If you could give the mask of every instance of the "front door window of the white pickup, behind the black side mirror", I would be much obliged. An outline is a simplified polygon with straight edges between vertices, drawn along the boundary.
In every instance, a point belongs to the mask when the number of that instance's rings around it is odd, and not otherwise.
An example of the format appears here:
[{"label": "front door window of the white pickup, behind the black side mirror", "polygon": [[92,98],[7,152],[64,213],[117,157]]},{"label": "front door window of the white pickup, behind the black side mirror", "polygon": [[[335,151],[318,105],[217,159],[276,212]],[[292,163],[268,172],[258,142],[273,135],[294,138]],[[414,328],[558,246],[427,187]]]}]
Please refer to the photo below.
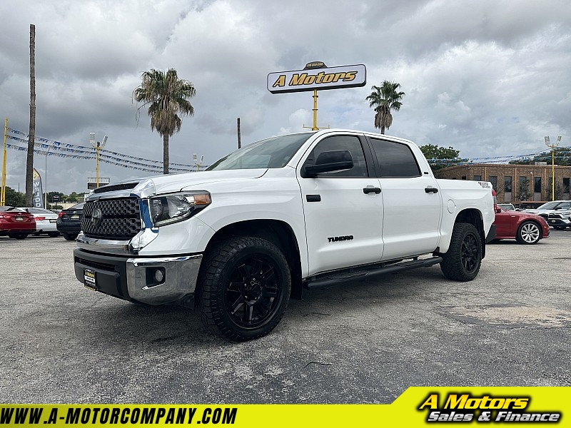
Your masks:
[{"label": "front door window of the white pickup, behind the black side mirror", "polygon": [[359,141],[355,136],[334,136],[323,138],[317,146],[313,148],[308,158],[305,159],[303,165],[313,165],[315,159],[320,153],[332,150],[348,150],[353,156],[353,168],[350,170],[333,171],[332,173],[319,174],[318,178],[334,178],[334,177],[367,177],[367,163],[365,162],[365,153]]}]

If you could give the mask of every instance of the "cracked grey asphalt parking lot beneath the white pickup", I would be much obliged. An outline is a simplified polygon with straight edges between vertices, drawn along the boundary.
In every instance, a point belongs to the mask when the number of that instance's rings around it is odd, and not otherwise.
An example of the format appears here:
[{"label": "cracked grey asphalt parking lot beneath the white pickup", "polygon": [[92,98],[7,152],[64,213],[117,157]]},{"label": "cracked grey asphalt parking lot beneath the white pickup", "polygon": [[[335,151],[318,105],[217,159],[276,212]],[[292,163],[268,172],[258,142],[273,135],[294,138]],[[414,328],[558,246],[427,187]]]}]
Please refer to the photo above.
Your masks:
[{"label": "cracked grey asphalt parking lot beneath the white pickup", "polygon": [[305,292],[244,343],[191,310],[87,290],[74,247],[0,238],[4,403],[390,403],[409,386],[571,385],[571,230],[488,245],[472,282],[437,265]]}]

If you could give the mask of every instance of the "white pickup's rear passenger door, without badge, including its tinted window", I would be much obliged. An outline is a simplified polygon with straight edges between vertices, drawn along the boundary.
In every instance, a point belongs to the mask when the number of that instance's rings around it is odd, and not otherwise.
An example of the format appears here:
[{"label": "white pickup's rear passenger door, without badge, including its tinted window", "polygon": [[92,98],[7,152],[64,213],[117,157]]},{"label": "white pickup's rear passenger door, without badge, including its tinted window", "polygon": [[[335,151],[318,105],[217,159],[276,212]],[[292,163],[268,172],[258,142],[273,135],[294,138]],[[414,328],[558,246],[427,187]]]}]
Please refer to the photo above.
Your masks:
[{"label": "white pickup's rear passenger door, without badge, including its tinted window", "polygon": [[421,170],[405,141],[371,137],[370,142],[383,195],[383,260],[433,252],[442,215],[438,183]]}]

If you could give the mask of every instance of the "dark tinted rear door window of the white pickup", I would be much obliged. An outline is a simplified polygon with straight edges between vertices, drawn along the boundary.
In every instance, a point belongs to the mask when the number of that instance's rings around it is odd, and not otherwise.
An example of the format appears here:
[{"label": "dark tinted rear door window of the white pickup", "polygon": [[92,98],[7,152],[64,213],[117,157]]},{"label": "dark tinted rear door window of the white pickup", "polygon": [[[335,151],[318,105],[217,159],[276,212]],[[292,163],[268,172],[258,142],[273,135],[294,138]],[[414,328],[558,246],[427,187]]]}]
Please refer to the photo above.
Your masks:
[{"label": "dark tinted rear door window of the white pickup", "polygon": [[418,177],[420,168],[410,148],[403,143],[371,138],[381,177]]}]

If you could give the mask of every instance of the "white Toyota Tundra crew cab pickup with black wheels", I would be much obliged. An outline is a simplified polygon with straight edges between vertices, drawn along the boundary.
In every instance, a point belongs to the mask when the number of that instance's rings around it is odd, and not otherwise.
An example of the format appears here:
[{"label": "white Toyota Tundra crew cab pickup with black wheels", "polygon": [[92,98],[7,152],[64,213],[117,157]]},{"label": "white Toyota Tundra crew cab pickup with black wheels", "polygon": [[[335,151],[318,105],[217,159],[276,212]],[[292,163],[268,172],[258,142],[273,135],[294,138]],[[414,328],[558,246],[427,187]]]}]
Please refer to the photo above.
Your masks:
[{"label": "white Toyota Tundra crew cab pickup with black wheels", "polygon": [[94,190],[75,273],[123,300],[196,307],[211,330],[249,340],[276,327],[303,287],[438,263],[472,280],[494,236],[488,184],[436,180],[401,138],[277,136],[202,172]]}]

